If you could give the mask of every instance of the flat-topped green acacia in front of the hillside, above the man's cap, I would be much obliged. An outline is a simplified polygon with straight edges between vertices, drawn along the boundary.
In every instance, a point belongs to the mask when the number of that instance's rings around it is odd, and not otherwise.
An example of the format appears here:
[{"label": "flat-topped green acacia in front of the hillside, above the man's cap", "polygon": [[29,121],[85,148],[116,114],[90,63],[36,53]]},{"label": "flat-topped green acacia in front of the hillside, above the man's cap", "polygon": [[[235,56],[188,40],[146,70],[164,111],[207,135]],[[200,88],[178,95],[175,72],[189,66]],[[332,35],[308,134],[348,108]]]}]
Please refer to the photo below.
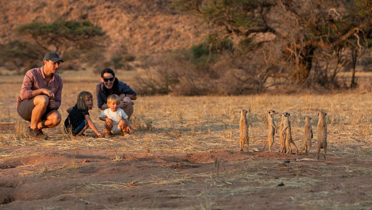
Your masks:
[{"label": "flat-topped green acacia in front of the hillside, above the man's cap", "polygon": [[61,56],[76,50],[102,48],[106,39],[100,27],[86,20],[57,20],[53,23],[35,21],[19,25],[16,32],[44,50],[59,52]]}]

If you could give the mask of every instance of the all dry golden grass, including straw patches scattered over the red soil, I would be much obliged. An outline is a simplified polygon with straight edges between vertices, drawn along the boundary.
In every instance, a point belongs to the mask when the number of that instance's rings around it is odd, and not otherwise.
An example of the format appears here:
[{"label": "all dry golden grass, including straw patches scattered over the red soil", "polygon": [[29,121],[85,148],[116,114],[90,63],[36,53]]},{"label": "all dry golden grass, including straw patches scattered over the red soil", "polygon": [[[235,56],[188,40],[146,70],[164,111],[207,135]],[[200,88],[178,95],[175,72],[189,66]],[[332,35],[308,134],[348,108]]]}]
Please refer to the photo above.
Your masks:
[{"label": "all dry golden grass, including straw patches scattered over the red soil", "polygon": [[[85,77],[74,77],[73,72],[62,74],[64,88],[62,92],[62,105],[60,112],[62,122],[67,116],[67,107],[75,104],[76,96],[80,91],[90,91],[94,95],[95,84],[98,75]],[[129,85],[133,81],[129,75],[120,74]],[[174,97],[174,96],[152,96],[141,97],[134,102],[135,112],[131,123],[134,127],[134,134],[128,138],[117,136],[115,138],[97,138],[92,130],[88,130],[88,137],[72,137],[63,133],[62,123],[56,128],[45,129],[49,135],[48,140],[30,140],[25,136],[25,128],[28,124],[22,120],[15,110],[15,99],[19,94],[22,78],[6,80],[0,78],[0,94],[3,100],[0,102],[0,123],[13,123],[15,130],[1,130],[0,135],[0,162],[13,157],[26,157],[30,155],[43,154],[43,149],[53,149],[55,152],[68,150],[106,150],[112,161],[125,161],[125,154],[173,154],[173,153],[208,153],[218,151],[239,151],[239,111],[241,108],[250,110],[249,121],[249,150],[261,148],[266,138],[265,112],[274,109],[279,113],[288,111],[291,113],[292,133],[296,145],[302,147],[304,116],[312,118],[314,131],[313,146],[310,153],[315,153],[317,110],[327,112],[326,121],[328,124],[328,155],[336,158],[348,158],[355,161],[372,163],[372,95],[358,91],[343,94],[323,95],[253,95],[253,96],[202,96],[202,97]],[[81,82],[82,81],[82,82]],[[133,87],[135,89],[135,87]],[[96,103],[94,97],[94,103]],[[96,104],[95,104],[96,105]],[[100,111],[95,107],[90,111],[93,122],[99,130],[103,131],[103,122],[98,119]],[[280,117],[277,115],[276,124],[279,126]],[[1,124],[0,124],[1,125]],[[279,150],[278,136],[275,136],[274,151]],[[42,150],[36,152],[17,151],[14,148],[28,148],[37,146]],[[9,150],[7,150],[9,148]],[[12,148],[10,150],[10,148]],[[8,152],[11,151],[11,152]],[[199,163],[212,163],[213,160],[200,159]],[[209,199],[221,195],[246,195],[263,191],[270,191],[280,183],[286,183],[284,188],[312,189],[321,184],[314,173],[324,173],[324,176],[334,176],[335,169],[341,169],[346,175],[371,175],[372,170],[368,167],[358,165],[325,165],[314,167],[311,164],[297,164],[297,167],[284,169],[295,173],[295,178],[279,177],[277,179],[265,178],[267,170],[276,170],[280,160],[244,160],[244,167],[227,171],[220,171],[220,166],[215,160],[214,171],[210,173],[178,174],[166,173],[164,177],[156,177],[148,180],[137,180],[122,182],[99,182],[84,181],[67,189],[66,194],[77,195],[77,191],[84,194],[96,189],[120,190],[136,188],[149,185],[192,185],[195,180],[204,179],[206,183],[213,185],[213,189],[201,193],[189,194],[181,191],[179,194],[169,194],[169,198],[193,198],[205,197],[202,209],[213,206]],[[36,176],[64,177],[80,170],[84,166],[78,163],[74,157],[66,166],[51,167],[46,162],[35,162],[32,166],[41,165],[37,172],[25,171],[20,176],[34,173]],[[224,163],[225,166],[230,163]],[[233,163],[231,163],[233,164]],[[300,165],[306,165],[302,168]],[[22,166],[20,166],[22,167]],[[29,168],[31,165],[24,165]],[[36,173],[36,174],[35,174]],[[307,174],[306,176],[302,176]],[[213,184],[214,183],[214,184]],[[217,184],[216,184],[217,183]],[[234,183],[234,184],[232,184]],[[235,183],[248,183],[248,185],[236,185]],[[252,187],[254,185],[254,187]],[[337,196],[344,194],[344,191],[320,191],[312,193],[304,191],[292,199],[300,200],[313,197]],[[366,194],[371,198],[371,191]],[[328,202],[327,200],[307,199],[302,203],[309,209],[317,207],[340,209],[352,208],[349,203]],[[366,207],[369,203],[361,201],[360,206]],[[357,205],[357,207],[360,207]],[[219,206],[228,208],[228,206]]]}]

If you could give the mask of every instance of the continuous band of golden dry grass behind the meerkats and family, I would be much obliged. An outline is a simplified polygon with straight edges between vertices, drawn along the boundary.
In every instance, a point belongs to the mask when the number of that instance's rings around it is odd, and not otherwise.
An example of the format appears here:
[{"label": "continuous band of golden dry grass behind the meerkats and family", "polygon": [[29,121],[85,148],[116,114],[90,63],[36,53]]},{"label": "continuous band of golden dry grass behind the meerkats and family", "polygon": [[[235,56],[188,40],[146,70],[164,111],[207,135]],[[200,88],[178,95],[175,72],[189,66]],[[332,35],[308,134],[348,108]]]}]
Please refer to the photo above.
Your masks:
[{"label": "continuous band of golden dry grass behind the meerkats and family", "polygon": [[[62,120],[67,116],[65,109],[74,105],[75,95],[80,90],[93,92],[95,83],[65,84],[60,108]],[[18,84],[1,84],[1,95],[8,94],[2,103],[1,121],[15,123],[16,132],[2,131],[0,143],[3,146],[57,147],[58,149],[107,148],[132,153],[163,152],[207,152],[212,150],[235,151],[238,149],[239,110],[250,109],[249,137],[252,147],[260,147],[266,135],[264,111],[275,109],[291,113],[293,136],[298,146],[302,145],[303,117],[312,117],[314,136],[318,109],[325,110],[328,123],[329,152],[334,155],[361,158],[371,157],[371,119],[368,111],[372,107],[370,94],[336,95],[290,95],[290,96],[234,96],[234,97],[138,97],[132,124],[135,128],[130,141],[120,138],[69,137],[62,132],[62,125],[46,129],[47,141],[30,141],[24,136],[27,123],[17,115],[14,99]],[[12,86],[12,87],[9,87]],[[93,88],[92,88],[93,87]],[[8,91],[5,91],[8,90]],[[12,97],[9,97],[12,96]],[[5,105],[6,104],[6,105]],[[91,110],[93,122],[103,130],[98,119],[100,111]],[[278,125],[279,118],[276,118]],[[62,124],[62,123],[61,123]],[[93,132],[88,134],[95,136]],[[315,140],[315,139],[314,139]],[[344,143],[344,144],[343,144]],[[332,147],[338,145],[338,147]],[[312,151],[314,147],[312,147]]]}]

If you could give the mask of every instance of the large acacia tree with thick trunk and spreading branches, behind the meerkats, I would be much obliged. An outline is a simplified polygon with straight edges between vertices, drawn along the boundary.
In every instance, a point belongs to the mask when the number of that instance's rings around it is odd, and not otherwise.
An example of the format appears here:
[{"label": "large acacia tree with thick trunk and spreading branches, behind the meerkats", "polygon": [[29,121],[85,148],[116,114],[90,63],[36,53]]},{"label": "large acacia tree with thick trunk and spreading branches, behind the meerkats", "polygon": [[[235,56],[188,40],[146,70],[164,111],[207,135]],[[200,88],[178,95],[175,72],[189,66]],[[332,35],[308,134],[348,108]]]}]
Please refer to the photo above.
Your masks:
[{"label": "large acacia tree with thick trunk and spreading branches, behind the meerkats", "polygon": [[[240,49],[237,53],[257,49],[252,45],[247,48],[242,41],[254,40],[261,33],[272,34],[276,42],[282,43],[281,59],[287,62],[286,73],[298,84],[305,84],[314,58],[322,56],[321,53],[341,55],[349,48],[368,47],[371,4],[371,0],[177,1],[179,8],[221,26],[223,30],[218,33],[222,39],[235,40],[234,48]],[[255,46],[259,47],[259,43]],[[328,82],[334,82],[340,66],[326,78]]]}]

